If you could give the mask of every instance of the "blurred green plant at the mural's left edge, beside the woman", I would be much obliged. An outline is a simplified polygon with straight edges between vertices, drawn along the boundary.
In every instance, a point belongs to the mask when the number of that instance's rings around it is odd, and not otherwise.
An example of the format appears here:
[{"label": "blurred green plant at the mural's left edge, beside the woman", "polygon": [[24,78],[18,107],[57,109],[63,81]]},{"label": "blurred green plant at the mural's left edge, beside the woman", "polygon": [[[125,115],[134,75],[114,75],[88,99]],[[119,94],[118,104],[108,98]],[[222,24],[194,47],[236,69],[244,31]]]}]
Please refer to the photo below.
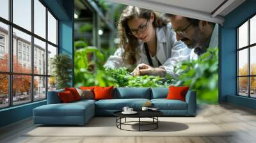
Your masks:
[{"label": "blurred green plant at the mural's left edge, beside the woman", "polygon": [[[83,47],[84,41],[76,41],[75,47]],[[92,61],[88,54],[94,57]],[[102,65],[104,55],[96,47],[83,47],[75,52],[75,85],[79,86],[116,86],[113,78],[106,75]]]}]

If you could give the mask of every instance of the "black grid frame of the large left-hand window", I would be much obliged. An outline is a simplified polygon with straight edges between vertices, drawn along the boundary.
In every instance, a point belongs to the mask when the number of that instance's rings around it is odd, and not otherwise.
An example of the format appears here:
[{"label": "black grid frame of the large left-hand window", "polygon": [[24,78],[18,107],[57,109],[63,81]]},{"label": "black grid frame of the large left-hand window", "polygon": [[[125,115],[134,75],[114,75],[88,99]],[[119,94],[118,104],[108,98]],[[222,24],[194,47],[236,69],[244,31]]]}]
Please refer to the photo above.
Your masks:
[{"label": "black grid frame of the large left-hand window", "polygon": [[[8,50],[9,50],[9,70],[8,72],[1,72],[0,71],[0,74],[2,75],[8,75],[8,98],[9,98],[9,103],[8,103],[8,106],[6,107],[0,107],[0,110],[1,109],[6,109],[6,108],[10,108],[10,107],[15,107],[15,106],[19,106],[19,105],[24,105],[24,104],[28,104],[28,103],[32,103],[32,102],[39,102],[39,101],[42,101],[42,100],[47,100],[47,91],[48,91],[48,80],[49,80],[49,77],[51,77],[51,75],[48,74],[48,69],[46,68],[45,69],[45,73],[34,73],[34,38],[37,38],[38,40],[41,40],[41,41],[44,41],[45,42],[45,59],[46,59],[46,65],[45,67],[48,66],[48,56],[47,56],[47,52],[48,52],[48,44],[49,45],[52,45],[53,47],[56,47],[57,49],[57,55],[59,54],[59,39],[58,39],[58,33],[59,33],[59,27],[58,27],[58,24],[59,24],[59,19],[56,17],[56,15],[54,15],[54,13],[50,10],[50,8],[48,8],[46,6],[46,4],[44,3],[44,1],[42,0],[38,0],[43,6],[45,6],[45,38],[39,36],[38,34],[35,34],[34,32],[34,15],[35,15],[35,9],[34,9],[34,1],[35,0],[31,0],[31,31],[28,31],[27,29],[13,23],[13,0],[9,0],[8,1],[8,6],[9,6],[9,11],[8,11],[8,16],[9,16],[9,20],[6,20],[4,19],[3,17],[0,17],[0,22],[3,23],[3,24],[6,24],[8,25]],[[48,40],[48,11],[49,13],[51,13],[51,15],[54,17],[54,19],[56,19],[56,44],[52,43],[51,41]],[[31,72],[30,73],[17,73],[17,72],[13,72],[13,28],[23,32],[23,33],[26,33],[26,34],[29,34],[29,36],[31,36],[31,47],[30,47],[30,54],[29,54],[29,61],[31,62]],[[26,47],[28,45],[26,45],[25,47],[25,51],[23,52],[23,44],[21,45],[21,50],[19,50],[19,41],[17,41],[17,52],[21,52],[22,54],[23,53],[26,53],[26,56],[27,56],[27,50],[26,50]],[[17,58],[18,55],[17,55]],[[22,57],[23,59],[23,57]],[[27,58],[26,58],[26,61],[27,61]],[[28,62],[28,61],[27,61]],[[13,105],[13,75],[29,75],[30,78],[31,78],[31,86],[30,86],[30,96],[31,96],[31,99],[28,100],[28,102],[26,103],[20,103],[20,104],[15,104]],[[40,99],[40,100],[35,100],[35,94],[34,94],[34,79],[36,77],[45,77],[45,98],[44,99]]]}]

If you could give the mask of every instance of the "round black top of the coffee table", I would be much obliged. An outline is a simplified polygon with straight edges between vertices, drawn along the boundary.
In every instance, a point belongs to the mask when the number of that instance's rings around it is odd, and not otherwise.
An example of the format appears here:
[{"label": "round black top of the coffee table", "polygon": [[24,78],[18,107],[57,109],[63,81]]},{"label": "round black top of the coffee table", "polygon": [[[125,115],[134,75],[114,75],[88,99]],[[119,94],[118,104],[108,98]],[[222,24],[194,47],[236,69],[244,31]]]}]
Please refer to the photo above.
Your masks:
[{"label": "round black top of the coffee table", "polygon": [[123,110],[114,112],[116,117],[159,117],[163,116],[163,112],[159,110],[136,110],[137,114],[122,114]]}]

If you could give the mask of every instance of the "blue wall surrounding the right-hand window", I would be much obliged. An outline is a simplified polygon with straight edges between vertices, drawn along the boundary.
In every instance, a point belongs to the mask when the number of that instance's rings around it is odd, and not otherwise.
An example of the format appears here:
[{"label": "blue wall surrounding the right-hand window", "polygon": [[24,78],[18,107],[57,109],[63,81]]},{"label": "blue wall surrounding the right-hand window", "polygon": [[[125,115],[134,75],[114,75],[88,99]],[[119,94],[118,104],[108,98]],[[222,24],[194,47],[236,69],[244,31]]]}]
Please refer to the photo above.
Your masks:
[{"label": "blue wall surrounding the right-hand window", "polygon": [[[225,17],[220,28],[220,102],[255,109],[256,100],[236,96],[236,27],[256,13],[256,0],[246,0]],[[253,105],[254,104],[254,105]]]}]

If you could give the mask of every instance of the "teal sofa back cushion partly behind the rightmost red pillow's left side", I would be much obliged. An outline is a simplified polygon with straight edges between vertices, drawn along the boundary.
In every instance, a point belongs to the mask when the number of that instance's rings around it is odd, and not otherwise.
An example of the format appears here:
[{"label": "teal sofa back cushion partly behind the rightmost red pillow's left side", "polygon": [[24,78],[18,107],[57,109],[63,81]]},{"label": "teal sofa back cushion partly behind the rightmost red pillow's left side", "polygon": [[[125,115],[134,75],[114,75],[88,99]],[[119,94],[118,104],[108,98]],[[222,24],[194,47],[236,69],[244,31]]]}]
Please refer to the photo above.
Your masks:
[{"label": "teal sofa back cushion partly behind the rightmost red pillow's left side", "polygon": [[152,87],[151,90],[151,99],[166,98],[169,93],[168,87]]}]

